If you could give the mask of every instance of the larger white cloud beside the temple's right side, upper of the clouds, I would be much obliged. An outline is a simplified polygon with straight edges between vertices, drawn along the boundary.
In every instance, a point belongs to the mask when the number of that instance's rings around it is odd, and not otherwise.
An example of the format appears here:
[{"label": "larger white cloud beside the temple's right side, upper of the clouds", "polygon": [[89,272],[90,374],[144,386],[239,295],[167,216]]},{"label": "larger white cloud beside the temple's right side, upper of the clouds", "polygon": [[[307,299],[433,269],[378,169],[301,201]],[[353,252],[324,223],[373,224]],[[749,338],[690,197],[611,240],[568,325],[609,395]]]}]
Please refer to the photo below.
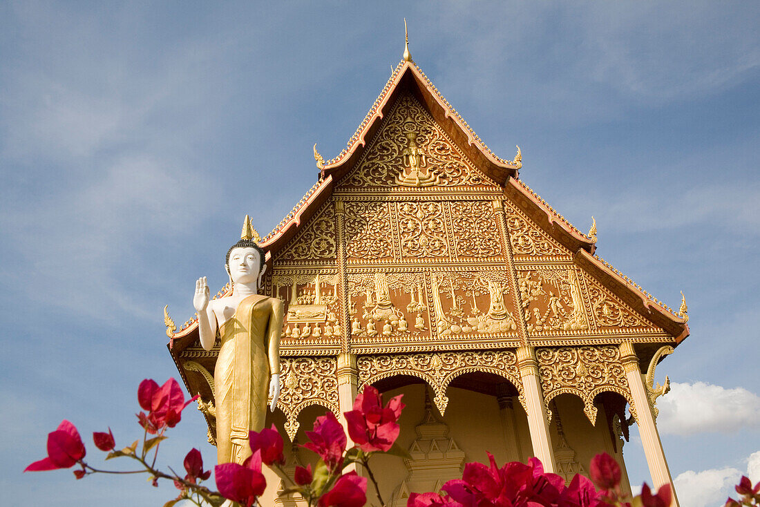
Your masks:
[{"label": "larger white cloud beside the temple's right side, upper of the clouds", "polygon": [[[705,382],[670,385],[670,393],[657,402],[660,433],[732,433],[741,428],[760,429],[760,397],[745,388],[727,389]],[[687,504],[688,505],[688,504]]]}]

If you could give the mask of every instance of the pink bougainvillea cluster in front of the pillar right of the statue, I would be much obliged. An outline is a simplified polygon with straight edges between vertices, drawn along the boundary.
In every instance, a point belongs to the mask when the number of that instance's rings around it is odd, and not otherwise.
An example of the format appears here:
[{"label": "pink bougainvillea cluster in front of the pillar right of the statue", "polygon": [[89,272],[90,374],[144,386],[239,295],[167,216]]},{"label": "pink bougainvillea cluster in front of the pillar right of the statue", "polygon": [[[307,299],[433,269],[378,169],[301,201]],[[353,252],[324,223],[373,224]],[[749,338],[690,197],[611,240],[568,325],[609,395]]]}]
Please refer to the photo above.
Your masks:
[{"label": "pink bougainvillea cluster in front of the pillar right of the statue", "polygon": [[363,452],[387,452],[393,446],[401,431],[398,417],[404,404],[398,395],[382,406],[379,391],[372,385],[366,385],[364,390],[356,395],[353,410],[346,412],[348,434]]}]

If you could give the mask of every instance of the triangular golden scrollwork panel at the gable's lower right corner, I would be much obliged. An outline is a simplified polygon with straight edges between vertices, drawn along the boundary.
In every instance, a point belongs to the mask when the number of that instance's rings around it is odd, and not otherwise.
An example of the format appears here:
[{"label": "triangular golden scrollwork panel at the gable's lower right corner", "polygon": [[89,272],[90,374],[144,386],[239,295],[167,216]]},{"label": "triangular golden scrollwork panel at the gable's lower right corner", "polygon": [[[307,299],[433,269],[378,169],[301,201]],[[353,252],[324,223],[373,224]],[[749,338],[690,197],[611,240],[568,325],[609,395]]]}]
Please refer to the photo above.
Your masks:
[{"label": "triangular golden scrollwork panel at the gable's lower right corner", "polygon": [[587,288],[591,318],[595,328],[614,334],[642,331],[663,332],[602,287],[591,275],[582,273],[582,278]]}]

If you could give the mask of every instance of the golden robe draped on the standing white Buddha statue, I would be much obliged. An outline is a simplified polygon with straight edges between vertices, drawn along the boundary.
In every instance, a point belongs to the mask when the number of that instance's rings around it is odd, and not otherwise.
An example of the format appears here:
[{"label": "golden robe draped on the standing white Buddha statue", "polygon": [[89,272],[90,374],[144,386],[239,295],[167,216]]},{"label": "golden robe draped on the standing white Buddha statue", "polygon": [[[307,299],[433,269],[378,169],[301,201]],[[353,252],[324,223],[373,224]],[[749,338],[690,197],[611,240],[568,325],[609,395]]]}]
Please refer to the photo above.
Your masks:
[{"label": "golden robe draped on the standing white Buddha statue", "polygon": [[264,429],[270,377],[280,372],[282,326],[282,301],[254,294],[219,328],[214,387],[220,464],[242,464],[251,455],[249,431]]}]

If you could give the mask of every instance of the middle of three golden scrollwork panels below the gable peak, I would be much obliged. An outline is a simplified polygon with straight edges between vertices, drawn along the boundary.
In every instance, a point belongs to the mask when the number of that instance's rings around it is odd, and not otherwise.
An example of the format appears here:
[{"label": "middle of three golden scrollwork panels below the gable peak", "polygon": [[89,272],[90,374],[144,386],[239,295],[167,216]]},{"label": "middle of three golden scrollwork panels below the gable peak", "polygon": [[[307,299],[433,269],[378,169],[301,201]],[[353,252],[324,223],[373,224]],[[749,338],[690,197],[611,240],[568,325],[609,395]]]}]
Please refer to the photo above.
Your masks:
[{"label": "middle of three golden scrollwork panels below the gable peak", "polygon": [[442,202],[398,204],[401,255],[404,257],[448,257],[443,206]]}]

